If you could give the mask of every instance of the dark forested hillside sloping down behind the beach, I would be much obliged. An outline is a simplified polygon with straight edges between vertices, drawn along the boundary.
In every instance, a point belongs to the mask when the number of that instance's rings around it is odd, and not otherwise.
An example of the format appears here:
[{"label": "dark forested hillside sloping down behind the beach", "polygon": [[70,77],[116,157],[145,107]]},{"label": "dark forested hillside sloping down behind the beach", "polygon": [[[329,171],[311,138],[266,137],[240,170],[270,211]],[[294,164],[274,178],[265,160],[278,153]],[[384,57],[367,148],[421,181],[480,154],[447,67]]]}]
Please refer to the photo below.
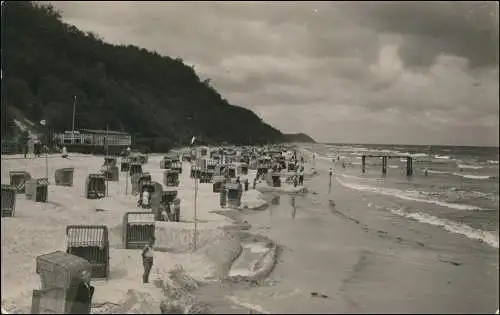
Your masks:
[{"label": "dark forested hillside sloping down behind the beach", "polygon": [[[71,130],[76,95],[76,128],[108,125],[147,138],[151,150],[186,144],[193,135],[207,143],[284,141],[255,113],[229,104],[182,59],[107,44],[63,23],[51,6],[4,3],[2,59],[2,107],[31,121],[45,119],[57,131]],[[2,137],[11,129],[2,128]]]}]

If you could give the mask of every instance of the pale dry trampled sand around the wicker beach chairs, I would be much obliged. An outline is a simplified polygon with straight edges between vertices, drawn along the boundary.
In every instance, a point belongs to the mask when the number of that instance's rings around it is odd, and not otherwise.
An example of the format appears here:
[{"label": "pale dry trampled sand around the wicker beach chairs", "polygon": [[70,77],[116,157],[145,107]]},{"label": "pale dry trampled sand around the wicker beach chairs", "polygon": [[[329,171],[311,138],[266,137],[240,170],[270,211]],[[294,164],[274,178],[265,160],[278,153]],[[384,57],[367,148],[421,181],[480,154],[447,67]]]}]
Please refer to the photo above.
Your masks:
[{"label": "pale dry trampled sand around the wicker beach chairs", "polygon": [[[151,156],[143,165],[152,179],[163,181],[159,168],[162,156]],[[123,249],[121,222],[136,207],[137,197],[131,195],[131,185],[126,184],[125,173],[118,182],[108,183],[108,196],[98,200],[84,197],[85,179],[89,173],[98,173],[102,157],[74,155],[62,159],[51,155],[48,161],[50,185],[48,202],[35,203],[18,194],[14,217],[2,218],[2,308],[10,313],[29,313],[32,290],[40,287],[35,272],[35,259],[56,250],[64,251],[65,229],[71,224],[104,224],[110,231],[110,276],[108,280],[93,280],[96,293],[93,313],[158,313],[165,299],[165,275],[181,266],[196,281],[226,277],[231,263],[241,252],[237,235],[224,229],[233,222],[226,216],[213,213],[226,211],[219,205],[219,195],[212,192],[211,184],[198,184],[196,201],[197,233],[194,248],[195,200],[194,180],[189,178],[189,165],[183,163],[180,185],[181,222],[156,222],[155,265],[151,283],[141,280],[140,250]],[[54,171],[74,168],[74,185],[54,185]],[[23,159],[22,156],[2,158],[1,180],[8,184],[9,171],[27,171],[32,178],[45,177],[45,158]],[[130,181],[130,180],[129,180]],[[128,191],[128,194],[126,192]],[[258,208],[265,205],[256,190],[244,192],[241,208]],[[96,211],[96,209],[100,209]],[[2,310],[2,313],[3,311]]]}]

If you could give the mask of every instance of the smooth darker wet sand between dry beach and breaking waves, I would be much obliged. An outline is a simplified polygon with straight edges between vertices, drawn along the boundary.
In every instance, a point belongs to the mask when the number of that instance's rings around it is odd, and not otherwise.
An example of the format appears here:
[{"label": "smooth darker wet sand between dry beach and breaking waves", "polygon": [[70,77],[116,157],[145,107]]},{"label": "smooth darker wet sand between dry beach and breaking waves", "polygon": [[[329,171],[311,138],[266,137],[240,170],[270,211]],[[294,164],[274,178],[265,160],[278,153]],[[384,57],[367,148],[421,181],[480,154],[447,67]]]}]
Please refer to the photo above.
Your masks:
[{"label": "smooth darker wet sand between dry beach and breaking waves", "polygon": [[498,249],[370,207],[368,193],[335,180],[328,193],[328,165],[317,164],[295,214],[283,194],[245,212],[250,231],[283,251],[265,285],[234,291],[239,300],[272,313],[496,311]]}]

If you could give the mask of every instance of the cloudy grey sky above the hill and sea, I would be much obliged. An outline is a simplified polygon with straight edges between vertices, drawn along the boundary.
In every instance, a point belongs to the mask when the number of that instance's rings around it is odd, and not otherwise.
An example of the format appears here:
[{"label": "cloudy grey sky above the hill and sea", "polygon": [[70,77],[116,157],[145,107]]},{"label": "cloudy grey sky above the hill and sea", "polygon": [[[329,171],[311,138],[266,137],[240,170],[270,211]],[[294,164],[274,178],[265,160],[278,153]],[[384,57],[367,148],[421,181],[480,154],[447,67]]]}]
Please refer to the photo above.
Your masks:
[{"label": "cloudy grey sky above the hill and sea", "polygon": [[498,2],[52,2],[319,142],[498,146]]}]

